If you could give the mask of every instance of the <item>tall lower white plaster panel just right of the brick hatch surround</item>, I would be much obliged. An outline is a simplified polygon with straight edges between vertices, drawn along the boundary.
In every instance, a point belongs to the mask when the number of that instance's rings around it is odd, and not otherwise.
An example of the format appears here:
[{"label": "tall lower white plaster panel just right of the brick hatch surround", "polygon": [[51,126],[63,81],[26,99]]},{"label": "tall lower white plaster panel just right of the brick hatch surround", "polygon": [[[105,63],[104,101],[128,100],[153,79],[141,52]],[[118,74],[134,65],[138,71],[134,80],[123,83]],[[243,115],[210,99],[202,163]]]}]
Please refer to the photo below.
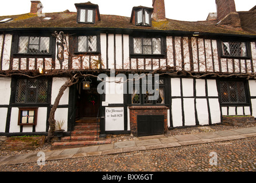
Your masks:
[{"label": "tall lower white plaster panel just right of the brick hatch surround", "polygon": [[181,99],[176,98],[172,100],[172,121],[173,127],[182,126],[183,118],[181,112]]}]

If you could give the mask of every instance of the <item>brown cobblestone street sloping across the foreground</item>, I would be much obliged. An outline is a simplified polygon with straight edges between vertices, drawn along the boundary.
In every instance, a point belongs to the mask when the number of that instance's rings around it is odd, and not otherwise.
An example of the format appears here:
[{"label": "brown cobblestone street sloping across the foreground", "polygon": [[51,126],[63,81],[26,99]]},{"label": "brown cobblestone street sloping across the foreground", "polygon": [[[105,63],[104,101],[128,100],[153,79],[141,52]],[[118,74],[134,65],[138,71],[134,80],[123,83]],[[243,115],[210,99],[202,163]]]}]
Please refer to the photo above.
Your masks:
[{"label": "brown cobblestone street sloping across the foreground", "polygon": [[[0,171],[17,172],[256,172],[256,138],[214,142],[176,148],[145,150],[96,157],[73,158],[37,163],[3,165]],[[216,152],[215,156],[210,156]],[[212,162],[217,165],[211,165]]]}]

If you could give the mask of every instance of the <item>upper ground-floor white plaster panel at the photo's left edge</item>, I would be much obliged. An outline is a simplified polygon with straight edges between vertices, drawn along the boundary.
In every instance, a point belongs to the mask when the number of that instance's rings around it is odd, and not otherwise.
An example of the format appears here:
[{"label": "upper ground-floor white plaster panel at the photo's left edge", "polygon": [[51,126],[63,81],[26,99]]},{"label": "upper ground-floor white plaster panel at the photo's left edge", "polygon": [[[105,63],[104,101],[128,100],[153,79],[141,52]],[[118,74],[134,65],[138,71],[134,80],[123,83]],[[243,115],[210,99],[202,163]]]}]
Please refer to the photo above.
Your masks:
[{"label": "upper ground-floor white plaster panel at the photo's left edge", "polygon": [[11,95],[11,78],[0,78],[0,105],[9,105]]}]

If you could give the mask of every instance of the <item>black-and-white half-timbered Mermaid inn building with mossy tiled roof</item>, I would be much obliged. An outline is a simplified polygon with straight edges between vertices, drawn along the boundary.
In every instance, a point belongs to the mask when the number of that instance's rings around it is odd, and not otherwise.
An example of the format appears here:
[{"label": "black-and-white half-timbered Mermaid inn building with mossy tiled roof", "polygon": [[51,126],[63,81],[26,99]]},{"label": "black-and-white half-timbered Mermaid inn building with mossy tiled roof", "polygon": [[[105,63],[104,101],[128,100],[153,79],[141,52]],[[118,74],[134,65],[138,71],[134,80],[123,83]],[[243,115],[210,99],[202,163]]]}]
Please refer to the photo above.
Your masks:
[{"label": "black-and-white half-timbered Mermaid inn building with mossy tiled roof", "polygon": [[[159,97],[141,93],[142,82],[140,92],[131,93],[123,90],[128,82],[106,82],[106,90],[121,92],[99,94],[96,77],[81,77],[65,90],[55,113],[66,134],[83,118],[98,117],[104,137],[256,116],[255,7],[237,12],[234,0],[216,0],[217,13],[187,22],[166,18],[164,0],[133,7],[131,17],[100,14],[91,2],[75,4],[76,12],[45,14],[38,4],[32,1],[28,14],[0,17],[2,135],[47,134],[59,89],[76,73],[106,74],[105,81],[157,73]],[[61,31],[64,45],[52,35]],[[90,90],[83,89],[85,80]]]}]

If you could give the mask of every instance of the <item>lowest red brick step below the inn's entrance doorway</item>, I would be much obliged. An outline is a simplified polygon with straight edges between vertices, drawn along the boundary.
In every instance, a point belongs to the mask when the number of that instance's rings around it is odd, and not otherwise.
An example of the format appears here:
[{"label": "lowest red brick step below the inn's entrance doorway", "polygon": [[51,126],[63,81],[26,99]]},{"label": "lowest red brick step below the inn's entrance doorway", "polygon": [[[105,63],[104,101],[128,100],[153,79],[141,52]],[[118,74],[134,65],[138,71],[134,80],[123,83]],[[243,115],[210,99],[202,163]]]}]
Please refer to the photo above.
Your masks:
[{"label": "lowest red brick step below the inn's entrance doorway", "polygon": [[103,141],[75,141],[75,142],[54,142],[52,144],[52,150],[54,149],[66,149],[66,148],[80,148],[83,146],[111,144],[111,139]]}]

